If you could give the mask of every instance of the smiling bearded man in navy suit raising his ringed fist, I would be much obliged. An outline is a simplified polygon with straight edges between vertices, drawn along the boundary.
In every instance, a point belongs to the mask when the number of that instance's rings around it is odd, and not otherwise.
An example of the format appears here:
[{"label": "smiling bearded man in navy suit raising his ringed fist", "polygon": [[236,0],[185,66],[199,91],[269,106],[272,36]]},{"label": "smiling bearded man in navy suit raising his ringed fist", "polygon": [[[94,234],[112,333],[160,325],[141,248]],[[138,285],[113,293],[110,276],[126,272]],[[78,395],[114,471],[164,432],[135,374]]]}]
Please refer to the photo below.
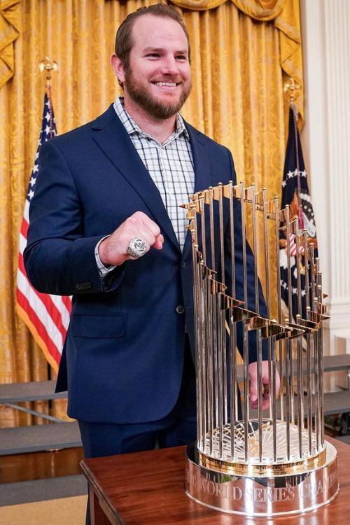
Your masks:
[{"label": "smiling bearded man in navy suit raising his ringed fist", "polygon": [[[190,45],[175,10],[129,15],[111,64],[124,97],[41,147],[25,250],[38,290],[73,295],[57,390],[68,388],[87,457],[195,440],[191,240],[179,205],[235,181],[230,152],[179,115]],[[239,231],[239,210],[236,219]]]}]

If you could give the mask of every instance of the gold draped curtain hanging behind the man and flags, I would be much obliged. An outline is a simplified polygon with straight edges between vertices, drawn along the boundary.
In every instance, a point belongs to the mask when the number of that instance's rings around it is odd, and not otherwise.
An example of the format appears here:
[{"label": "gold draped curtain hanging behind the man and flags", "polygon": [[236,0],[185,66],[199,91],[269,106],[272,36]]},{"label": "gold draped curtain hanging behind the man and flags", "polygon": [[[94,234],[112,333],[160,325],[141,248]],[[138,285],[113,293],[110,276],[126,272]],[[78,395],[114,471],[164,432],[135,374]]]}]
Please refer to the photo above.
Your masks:
[{"label": "gold draped curtain hanging behind the man and flags", "polygon": [[[116,28],[127,13],[151,3],[155,0],[1,3],[0,68],[11,62],[10,51],[1,52],[6,20],[13,27],[6,45],[12,46],[14,74],[0,87],[0,383],[48,374],[41,350],[15,314],[18,232],[43,111],[45,80],[38,63],[49,56],[59,64],[52,76],[57,131],[86,123],[120,93],[109,65]],[[287,120],[283,78],[296,72],[302,83],[298,0],[169,3],[183,13],[193,48],[193,92],[183,115],[230,148],[238,181],[266,186],[269,197],[280,195]],[[63,410],[62,403],[56,405],[56,414]],[[0,426],[28,422],[29,416],[0,407]]]}]

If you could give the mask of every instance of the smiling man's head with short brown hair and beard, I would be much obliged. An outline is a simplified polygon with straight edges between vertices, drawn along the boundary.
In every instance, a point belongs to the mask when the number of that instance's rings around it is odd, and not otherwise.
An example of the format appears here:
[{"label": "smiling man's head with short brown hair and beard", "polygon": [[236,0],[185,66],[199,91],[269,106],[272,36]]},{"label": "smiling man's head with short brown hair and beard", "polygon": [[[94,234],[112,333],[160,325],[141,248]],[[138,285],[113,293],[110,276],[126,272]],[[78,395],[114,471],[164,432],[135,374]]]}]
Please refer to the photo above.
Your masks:
[{"label": "smiling man's head with short brown hair and beard", "polygon": [[142,119],[146,127],[152,121],[156,130],[161,121],[170,133],[191,88],[188,36],[174,13],[166,19],[151,14],[130,17],[118,31],[111,61],[124,87],[125,109],[134,120]]}]

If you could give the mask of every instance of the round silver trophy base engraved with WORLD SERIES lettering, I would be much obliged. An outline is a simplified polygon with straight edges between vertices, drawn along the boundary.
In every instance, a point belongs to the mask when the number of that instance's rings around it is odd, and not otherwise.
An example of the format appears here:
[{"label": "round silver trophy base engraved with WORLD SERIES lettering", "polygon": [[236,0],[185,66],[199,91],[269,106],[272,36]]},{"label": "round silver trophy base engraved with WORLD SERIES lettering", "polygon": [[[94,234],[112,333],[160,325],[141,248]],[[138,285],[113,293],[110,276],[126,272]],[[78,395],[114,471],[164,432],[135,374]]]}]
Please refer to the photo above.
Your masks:
[{"label": "round silver trophy base engraved with WORLD SERIES lettering", "polygon": [[201,505],[229,514],[272,517],[300,514],[330,503],[339,493],[337,451],[325,442],[324,461],[295,474],[247,476],[201,465],[195,444],[187,449],[186,494]]}]

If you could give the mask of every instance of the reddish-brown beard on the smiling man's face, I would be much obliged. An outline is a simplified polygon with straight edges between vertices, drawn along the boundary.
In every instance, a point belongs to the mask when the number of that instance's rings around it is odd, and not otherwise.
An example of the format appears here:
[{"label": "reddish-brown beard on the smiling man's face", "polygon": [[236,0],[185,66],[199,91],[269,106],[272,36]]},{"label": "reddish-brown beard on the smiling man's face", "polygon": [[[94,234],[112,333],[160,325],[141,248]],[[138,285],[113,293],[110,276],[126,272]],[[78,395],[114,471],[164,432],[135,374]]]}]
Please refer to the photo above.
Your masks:
[{"label": "reddish-brown beard on the smiling man's face", "polygon": [[[174,80],[167,78],[166,80],[162,80],[162,82],[174,82]],[[160,100],[153,97],[153,95],[145,89],[144,85],[137,83],[134,78],[132,78],[130,71],[125,71],[124,86],[130,98],[157,120],[165,120],[176,115],[188,99],[192,87],[190,80],[188,80],[188,83],[183,84],[183,90],[178,101],[170,104],[160,102]]]}]

